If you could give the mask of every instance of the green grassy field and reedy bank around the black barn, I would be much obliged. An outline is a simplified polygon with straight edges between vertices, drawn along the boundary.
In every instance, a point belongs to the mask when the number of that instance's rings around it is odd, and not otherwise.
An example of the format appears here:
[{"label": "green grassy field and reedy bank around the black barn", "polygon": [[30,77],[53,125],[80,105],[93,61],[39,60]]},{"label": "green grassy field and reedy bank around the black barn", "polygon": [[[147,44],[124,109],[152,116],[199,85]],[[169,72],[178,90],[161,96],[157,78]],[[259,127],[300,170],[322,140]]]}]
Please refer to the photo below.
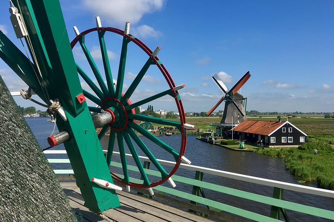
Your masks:
[{"label": "green grassy field and reedy bank around the black barn", "polygon": [[[278,121],[277,116],[247,117],[252,120]],[[173,120],[173,119],[171,119]],[[210,123],[220,122],[221,117],[187,117],[187,123],[196,125],[203,131],[213,127]],[[283,121],[287,119],[282,118]],[[175,119],[177,121],[177,119]],[[245,149],[239,148],[239,143],[217,144],[225,148],[242,151],[253,151],[276,158],[284,158],[286,169],[299,177],[302,182],[317,183],[319,187],[334,190],[334,119],[324,115],[301,115],[289,118],[289,122],[303,130],[307,142],[296,148],[267,148],[260,149],[254,144],[245,143]],[[190,133],[189,133],[190,134]],[[193,134],[193,133],[191,133]],[[314,149],[318,150],[315,155]]]}]

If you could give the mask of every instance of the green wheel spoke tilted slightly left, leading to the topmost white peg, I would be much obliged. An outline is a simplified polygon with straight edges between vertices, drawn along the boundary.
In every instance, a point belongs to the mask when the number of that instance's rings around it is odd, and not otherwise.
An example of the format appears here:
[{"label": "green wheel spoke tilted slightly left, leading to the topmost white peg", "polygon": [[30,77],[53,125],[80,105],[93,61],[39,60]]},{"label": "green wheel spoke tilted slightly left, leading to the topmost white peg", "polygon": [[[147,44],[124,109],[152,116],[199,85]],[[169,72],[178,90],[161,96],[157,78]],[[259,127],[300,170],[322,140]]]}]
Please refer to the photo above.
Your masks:
[{"label": "green wheel spoke tilted slightly left, leading to the topmost white peg", "polygon": [[112,80],[112,73],[111,73],[111,70],[110,70],[108,51],[107,51],[107,48],[105,46],[105,41],[104,41],[105,31],[104,30],[97,31],[97,33],[98,33],[98,39],[99,39],[99,42],[100,42],[105,79],[107,80],[108,96],[109,97],[114,97],[115,96],[114,82]]}]

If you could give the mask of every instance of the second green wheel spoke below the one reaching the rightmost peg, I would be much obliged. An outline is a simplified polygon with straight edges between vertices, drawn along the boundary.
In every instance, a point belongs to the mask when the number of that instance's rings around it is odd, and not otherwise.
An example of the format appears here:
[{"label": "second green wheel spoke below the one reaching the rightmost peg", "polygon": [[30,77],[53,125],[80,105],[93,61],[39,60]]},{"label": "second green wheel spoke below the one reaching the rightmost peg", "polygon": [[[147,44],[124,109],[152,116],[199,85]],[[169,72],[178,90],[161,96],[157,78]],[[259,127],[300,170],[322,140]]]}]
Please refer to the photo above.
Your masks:
[{"label": "second green wheel spoke below the one reaching the rightmost peg", "polygon": [[161,173],[161,178],[164,179],[168,176],[168,173],[166,170],[161,166],[161,164],[157,161],[157,159],[154,157],[153,153],[147,148],[145,143],[139,138],[139,136],[133,131],[132,128],[127,127],[126,132],[129,133],[129,135],[132,137],[132,139],[138,144],[139,148],[145,153],[145,155],[151,160],[153,165],[159,170]]}]

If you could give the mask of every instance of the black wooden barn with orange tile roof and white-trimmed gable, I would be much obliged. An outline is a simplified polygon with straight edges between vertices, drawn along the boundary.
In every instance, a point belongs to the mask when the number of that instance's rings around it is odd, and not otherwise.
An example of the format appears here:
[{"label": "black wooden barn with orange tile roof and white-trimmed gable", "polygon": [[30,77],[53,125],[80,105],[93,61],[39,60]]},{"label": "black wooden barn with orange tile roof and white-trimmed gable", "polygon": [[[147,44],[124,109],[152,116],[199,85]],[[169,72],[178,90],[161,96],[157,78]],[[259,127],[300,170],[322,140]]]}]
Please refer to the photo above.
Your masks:
[{"label": "black wooden barn with orange tile roof and white-trimmed gable", "polygon": [[235,126],[233,137],[269,147],[299,146],[306,142],[307,134],[286,121],[246,120]]}]

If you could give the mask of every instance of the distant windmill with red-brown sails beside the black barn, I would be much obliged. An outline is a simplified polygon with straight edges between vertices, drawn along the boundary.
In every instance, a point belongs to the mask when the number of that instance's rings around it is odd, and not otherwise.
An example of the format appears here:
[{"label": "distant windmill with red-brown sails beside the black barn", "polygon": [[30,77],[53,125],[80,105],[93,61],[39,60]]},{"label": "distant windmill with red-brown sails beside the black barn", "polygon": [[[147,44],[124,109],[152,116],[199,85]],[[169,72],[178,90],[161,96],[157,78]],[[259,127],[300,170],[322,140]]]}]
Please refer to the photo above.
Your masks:
[{"label": "distant windmill with red-brown sails beside the black barn", "polygon": [[218,87],[223,91],[224,96],[218,101],[218,103],[209,111],[207,111],[208,116],[216,110],[216,108],[225,101],[225,109],[223,113],[223,118],[221,123],[223,124],[234,124],[243,122],[246,120],[246,98],[240,95],[238,90],[247,82],[251,77],[250,72],[248,71],[230,90],[227,89],[224,82],[215,74],[212,79],[218,85]]}]

